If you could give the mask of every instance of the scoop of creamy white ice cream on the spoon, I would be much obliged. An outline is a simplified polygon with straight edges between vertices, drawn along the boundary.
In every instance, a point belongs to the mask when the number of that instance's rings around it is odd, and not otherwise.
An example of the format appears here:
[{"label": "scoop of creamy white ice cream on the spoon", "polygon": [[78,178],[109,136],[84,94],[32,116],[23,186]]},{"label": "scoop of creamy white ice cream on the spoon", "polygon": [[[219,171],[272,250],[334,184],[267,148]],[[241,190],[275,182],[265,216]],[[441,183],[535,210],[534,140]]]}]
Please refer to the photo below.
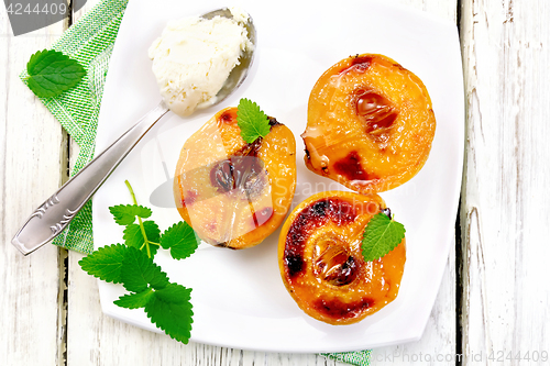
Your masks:
[{"label": "scoop of creamy white ice cream on the spoon", "polygon": [[253,47],[243,23],[248,14],[231,9],[233,19],[199,16],[170,21],[148,49],[153,73],[168,108],[189,115],[215,96],[241,54]]}]

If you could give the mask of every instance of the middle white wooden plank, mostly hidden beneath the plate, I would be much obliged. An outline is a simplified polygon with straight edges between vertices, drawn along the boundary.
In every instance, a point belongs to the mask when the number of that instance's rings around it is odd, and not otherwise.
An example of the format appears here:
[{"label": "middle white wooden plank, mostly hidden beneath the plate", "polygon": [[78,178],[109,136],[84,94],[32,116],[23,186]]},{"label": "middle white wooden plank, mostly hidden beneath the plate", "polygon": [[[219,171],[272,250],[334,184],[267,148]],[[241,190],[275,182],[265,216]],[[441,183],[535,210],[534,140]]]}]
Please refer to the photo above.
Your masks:
[{"label": "middle white wooden plank, mostly hidden beneath the plate", "polygon": [[[89,0],[75,14],[81,16],[96,1]],[[402,0],[417,9],[428,10],[452,21],[457,2],[441,4],[437,0]],[[112,320],[102,314],[96,279],[86,275],[78,260],[82,255],[69,253],[68,263],[68,336],[67,364],[70,365],[343,365],[317,355],[274,354],[215,347],[197,343],[185,346],[160,335]],[[454,256],[446,270],[438,300],[422,341],[383,352],[407,353],[435,350],[454,353],[455,343]],[[378,363],[376,363],[378,365]]]}]

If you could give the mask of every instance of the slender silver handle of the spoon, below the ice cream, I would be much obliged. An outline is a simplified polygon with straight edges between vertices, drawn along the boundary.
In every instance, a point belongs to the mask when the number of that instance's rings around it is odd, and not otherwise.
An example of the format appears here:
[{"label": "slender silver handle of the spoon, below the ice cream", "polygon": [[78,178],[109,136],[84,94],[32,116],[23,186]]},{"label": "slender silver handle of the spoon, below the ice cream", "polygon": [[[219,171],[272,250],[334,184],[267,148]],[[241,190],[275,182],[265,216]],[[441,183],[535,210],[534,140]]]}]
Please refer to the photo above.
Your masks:
[{"label": "slender silver handle of the spoon, below the ice cream", "polygon": [[18,231],[11,241],[12,244],[28,255],[57,236],[143,135],[167,112],[164,102],[148,111],[42,203]]}]

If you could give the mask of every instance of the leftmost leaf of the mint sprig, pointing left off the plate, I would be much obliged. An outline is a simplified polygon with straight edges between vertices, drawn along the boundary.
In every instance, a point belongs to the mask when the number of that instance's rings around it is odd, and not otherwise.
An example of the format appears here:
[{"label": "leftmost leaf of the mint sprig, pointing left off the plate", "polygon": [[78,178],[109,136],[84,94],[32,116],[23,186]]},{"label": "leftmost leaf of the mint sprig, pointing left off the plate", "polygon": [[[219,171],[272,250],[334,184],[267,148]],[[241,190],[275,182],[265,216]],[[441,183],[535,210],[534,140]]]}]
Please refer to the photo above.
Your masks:
[{"label": "leftmost leaf of the mint sprig, pointing left off the plate", "polygon": [[107,282],[122,282],[120,269],[128,247],[122,244],[112,244],[98,248],[81,258],[78,264],[89,275]]}]

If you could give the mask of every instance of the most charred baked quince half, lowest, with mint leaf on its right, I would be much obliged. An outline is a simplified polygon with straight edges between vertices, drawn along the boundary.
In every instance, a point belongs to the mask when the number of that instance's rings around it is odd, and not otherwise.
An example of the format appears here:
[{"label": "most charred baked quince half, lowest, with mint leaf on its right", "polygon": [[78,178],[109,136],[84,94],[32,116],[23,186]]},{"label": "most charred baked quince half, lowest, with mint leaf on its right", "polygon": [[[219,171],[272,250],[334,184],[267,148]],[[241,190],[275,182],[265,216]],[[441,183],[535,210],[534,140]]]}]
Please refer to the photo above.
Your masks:
[{"label": "most charred baked quince half, lowest, with mint leaf on its right", "polygon": [[386,206],[377,195],[326,191],[298,204],[279,236],[283,281],[308,315],[352,324],[392,302],[405,266],[405,239],[365,263],[361,243],[369,221]]}]

